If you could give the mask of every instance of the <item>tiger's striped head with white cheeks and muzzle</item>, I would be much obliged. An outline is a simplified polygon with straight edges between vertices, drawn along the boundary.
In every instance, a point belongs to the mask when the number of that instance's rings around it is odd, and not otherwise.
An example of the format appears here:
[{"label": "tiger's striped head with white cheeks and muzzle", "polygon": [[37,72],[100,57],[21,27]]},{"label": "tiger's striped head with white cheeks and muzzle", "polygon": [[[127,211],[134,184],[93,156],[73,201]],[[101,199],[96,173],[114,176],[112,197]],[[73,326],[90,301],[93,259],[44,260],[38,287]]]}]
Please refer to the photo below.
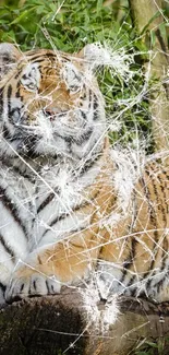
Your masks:
[{"label": "tiger's striped head with white cheeks and muzzle", "polygon": [[0,45],[2,154],[82,157],[96,144],[105,110],[87,51],[22,54]]}]

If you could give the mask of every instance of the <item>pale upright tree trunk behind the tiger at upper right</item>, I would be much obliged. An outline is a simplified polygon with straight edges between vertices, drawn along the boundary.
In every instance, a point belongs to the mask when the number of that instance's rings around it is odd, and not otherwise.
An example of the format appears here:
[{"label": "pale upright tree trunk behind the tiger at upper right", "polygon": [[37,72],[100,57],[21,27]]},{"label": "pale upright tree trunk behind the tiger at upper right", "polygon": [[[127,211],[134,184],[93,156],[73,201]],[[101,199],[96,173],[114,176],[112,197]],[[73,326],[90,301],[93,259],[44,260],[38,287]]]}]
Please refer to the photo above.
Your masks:
[{"label": "pale upright tree trunk behind the tiger at upper right", "polygon": [[[131,17],[142,42],[150,50],[149,62],[144,68],[147,78],[154,81],[149,92],[149,110],[152,114],[155,150],[169,154],[169,51],[162,15],[162,0],[129,0]],[[162,29],[164,31],[162,31]],[[156,81],[155,81],[156,80]],[[169,157],[165,159],[169,164]]]}]

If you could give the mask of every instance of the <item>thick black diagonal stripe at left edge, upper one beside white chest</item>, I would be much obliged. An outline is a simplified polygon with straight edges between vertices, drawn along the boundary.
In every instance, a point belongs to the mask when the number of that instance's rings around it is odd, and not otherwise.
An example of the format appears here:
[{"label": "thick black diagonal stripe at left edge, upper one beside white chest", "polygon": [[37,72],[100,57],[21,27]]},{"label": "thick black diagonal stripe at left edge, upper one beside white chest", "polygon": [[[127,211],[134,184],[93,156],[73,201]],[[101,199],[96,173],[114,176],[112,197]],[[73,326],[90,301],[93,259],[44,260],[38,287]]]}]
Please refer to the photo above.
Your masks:
[{"label": "thick black diagonal stripe at left edge, upper one beside white chest", "polygon": [[25,237],[27,238],[26,227],[24,226],[23,221],[19,217],[17,210],[16,210],[14,203],[12,203],[11,200],[8,198],[8,196],[5,193],[5,189],[3,189],[2,187],[0,187],[0,199],[3,203],[3,205],[7,208],[7,210],[10,211],[14,221],[19,224],[19,226],[23,230]]}]

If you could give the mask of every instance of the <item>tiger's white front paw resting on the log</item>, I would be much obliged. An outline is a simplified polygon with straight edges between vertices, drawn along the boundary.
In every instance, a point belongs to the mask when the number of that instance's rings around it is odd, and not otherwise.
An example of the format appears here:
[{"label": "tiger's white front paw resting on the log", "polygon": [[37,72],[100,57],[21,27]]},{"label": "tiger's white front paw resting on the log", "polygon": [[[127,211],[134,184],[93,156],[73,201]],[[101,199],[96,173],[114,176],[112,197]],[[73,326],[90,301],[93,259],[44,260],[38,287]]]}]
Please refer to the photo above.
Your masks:
[{"label": "tiger's white front paw resting on the log", "polygon": [[60,289],[61,283],[53,275],[45,276],[37,272],[12,279],[5,291],[5,300],[12,303],[25,297],[55,295]]}]

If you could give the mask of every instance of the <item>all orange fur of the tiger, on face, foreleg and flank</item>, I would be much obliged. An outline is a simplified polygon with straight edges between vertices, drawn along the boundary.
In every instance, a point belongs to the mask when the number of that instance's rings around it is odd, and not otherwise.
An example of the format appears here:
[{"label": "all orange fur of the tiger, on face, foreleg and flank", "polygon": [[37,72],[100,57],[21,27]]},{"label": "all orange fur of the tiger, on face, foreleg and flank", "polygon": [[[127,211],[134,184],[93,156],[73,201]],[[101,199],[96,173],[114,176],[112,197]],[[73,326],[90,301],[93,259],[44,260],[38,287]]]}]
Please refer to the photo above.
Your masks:
[{"label": "all orange fur of the tiger, on face, foreleg and flank", "polygon": [[[52,54],[50,50],[40,52],[41,56]],[[31,54],[26,54],[27,58]],[[65,54],[60,56],[62,60],[71,58],[80,71],[83,71],[82,52],[75,56]],[[12,72],[13,76],[11,73],[5,76],[5,81],[11,82],[14,92],[16,92],[16,81],[13,83],[13,78],[23,64],[22,57],[15,72]],[[73,121],[73,109],[76,105],[81,106],[83,88],[81,94],[70,93],[67,90],[64,80],[60,78],[60,72],[58,73],[61,66],[57,56],[55,63],[50,59],[44,61],[44,76],[39,87],[43,98],[40,95],[38,98],[35,97],[35,93],[26,91],[23,85],[20,86],[19,95],[24,97],[26,108],[32,114],[31,120],[34,120],[35,111],[40,107],[47,108],[49,113],[57,107],[58,111],[72,109],[70,123],[71,120]],[[95,79],[93,84],[97,87]],[[46,97],[48,95],[51,96],[50,99]],[[110,158],[109,141],[106,138],[100,173],[92,186],[82,193],[87,201],[92,201],[80,209],[83,215],[90,216],[88,227],[39,251],[34,264],[20,267],[14,277],[31,277],[35,272],[39,272],[49,276],[56,275],[63,283],[74,283],[87,276],[98,260],[117,264],[123,269],[123,274],[133,274],[141,280],[155,270],[159,269],[164,272],[162,263],[168,259],[169,245],[169,177],[167,171],[160,170],[161,167],[155,164],[145,166],[145,170],[142,171],[131,192],[128,211],[123,215],[117,201],[113,186],[114,166]],[[119,214],[121,213],[121,217],[111,225],[110,221],[106,220],[117,210]],[[169,288],[161,288],[159,294],[159,300],[168,299]]]}]

